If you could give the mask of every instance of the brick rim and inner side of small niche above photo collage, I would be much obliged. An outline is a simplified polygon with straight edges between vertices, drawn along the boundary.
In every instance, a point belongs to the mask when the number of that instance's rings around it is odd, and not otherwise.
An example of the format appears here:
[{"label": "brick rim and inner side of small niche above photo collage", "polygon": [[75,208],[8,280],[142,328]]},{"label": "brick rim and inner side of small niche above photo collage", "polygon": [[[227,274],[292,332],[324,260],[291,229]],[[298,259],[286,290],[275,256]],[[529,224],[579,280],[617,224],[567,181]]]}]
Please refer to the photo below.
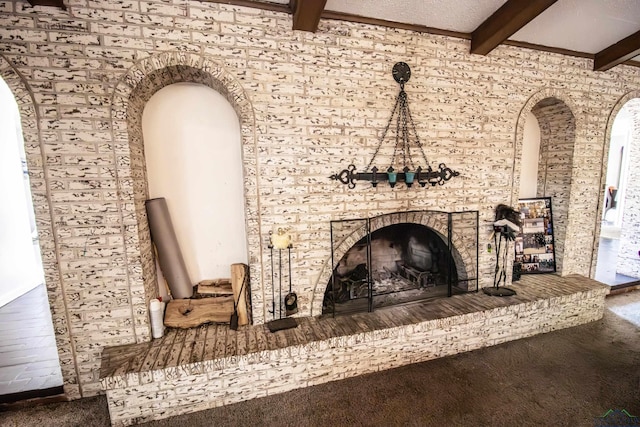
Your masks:
[{"label": "brick rim and inner side of small niche above photo collage", "polygon": [[576,129],[582,126],[574,111],[576,107],[561,91],[543,90],[529,98],[520,111],[516,126],[512,205],[519,199],[524,122],[531,112],[540,126],[536,196],[552,198],[556,270],[560,274],[565,274],[563,260],[569,235]]}]

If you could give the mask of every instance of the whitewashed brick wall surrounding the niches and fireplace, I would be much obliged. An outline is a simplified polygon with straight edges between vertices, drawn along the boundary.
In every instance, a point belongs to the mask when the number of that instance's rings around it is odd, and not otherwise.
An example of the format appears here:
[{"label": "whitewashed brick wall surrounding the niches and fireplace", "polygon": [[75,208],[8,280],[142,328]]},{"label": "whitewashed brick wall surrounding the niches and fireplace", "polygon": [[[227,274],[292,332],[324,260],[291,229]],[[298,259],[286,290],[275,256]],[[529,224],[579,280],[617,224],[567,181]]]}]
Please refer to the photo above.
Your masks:
[{"label": "whitewashed brick wall surrounding the niches and fireplace", "polygon": [[[624,96],[640,94],[640,69],[596,73],[588,59],[511,46],[470,55],[468,40],[341,21],[292,31],[288,14],[208,2],[67,4],[0,1],[0,76],[22,114],[69,396],[99,392],[103,346],[149,339],[154,290],[133,113],[162,84],[195,79],[240,117],[257,322],[269,320],[274,224],[292,226],[293,286],[308,315],[330,220],[467,209],[484,226],[498,203],[514,204],[524,117],[548,97],[575,118],[562,272],[593,269],[608,120]],[[397,61],[412,68],[406,91],[432,165],[461,176],[423,190],[348,190],[328,176],[371,158],[398,90]],[[482,252],[481,286],[492,269]]]}]

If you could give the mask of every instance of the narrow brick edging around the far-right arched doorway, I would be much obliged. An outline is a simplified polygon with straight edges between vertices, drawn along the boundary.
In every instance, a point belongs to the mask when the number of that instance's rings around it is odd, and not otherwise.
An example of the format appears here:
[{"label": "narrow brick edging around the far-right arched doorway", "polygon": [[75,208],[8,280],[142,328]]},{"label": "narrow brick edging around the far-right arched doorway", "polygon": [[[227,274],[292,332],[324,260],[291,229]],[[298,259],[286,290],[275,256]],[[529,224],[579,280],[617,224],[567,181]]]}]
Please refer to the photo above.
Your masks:
[{"label": "narrow brick edging around the far-right arched doorway", "polygon": [[622,97],[615,103],[613,108],[611,109],[611,113],[607,118],[607,127],[604,135],[604,141],[602,141],[603,151],[602,151],[602,162],[601,162],[601,170],[600,170],[600,186],[599,186],[599,194],[598,194],[598,210],[595,217],[594,224],[594,245],[593,250],[591,252],[591,268],[589,269],[589,277],[595,277],[596,267],[598,265],[598,249],[599,249],[599,241],[600,241],[600,233],[602,230],[602,213],[604,206],[601,201],[604,200],[604,193],[606,191],[605,185],[607,181],[607,166],[609,164],[609,150],[611,149],[611,133],[613,130],[613,124],[620,113],[620,110],[631,100],[640,98],[640,90],[633,90]]}]

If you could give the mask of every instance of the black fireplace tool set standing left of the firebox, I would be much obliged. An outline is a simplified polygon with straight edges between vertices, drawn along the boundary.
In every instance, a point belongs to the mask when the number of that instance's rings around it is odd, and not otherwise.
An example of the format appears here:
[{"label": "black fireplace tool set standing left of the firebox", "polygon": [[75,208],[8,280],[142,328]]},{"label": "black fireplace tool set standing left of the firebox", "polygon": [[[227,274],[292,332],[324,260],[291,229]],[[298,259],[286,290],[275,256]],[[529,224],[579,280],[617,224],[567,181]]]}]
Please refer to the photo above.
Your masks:
[{"label": "black fireplace tool set standing left of the firebox", "polygon": [[[298,312],[298,296],[291,290],[291,236],[285,232],[283,228],[278,228],[277,232],[271,233],[271,243],[269,249],[271,250],[271,311],[273,314],[273,320],[267,323],[267,327],[271,332],[280,331],[283,329],[295,328],[298,326],[296,320],[291,316]],[[273,250],[278,251],[278,284],[279,284],[279,301],[280,307],[278,310],[279,318],[276,319],[276,297],[275,297],[275,256]],[[282,298],[282,251],[286,250],[288,254],[288,267],[289,267],[289,293]],[[285,315],[282,317],[282,305],[284,302]]]}]

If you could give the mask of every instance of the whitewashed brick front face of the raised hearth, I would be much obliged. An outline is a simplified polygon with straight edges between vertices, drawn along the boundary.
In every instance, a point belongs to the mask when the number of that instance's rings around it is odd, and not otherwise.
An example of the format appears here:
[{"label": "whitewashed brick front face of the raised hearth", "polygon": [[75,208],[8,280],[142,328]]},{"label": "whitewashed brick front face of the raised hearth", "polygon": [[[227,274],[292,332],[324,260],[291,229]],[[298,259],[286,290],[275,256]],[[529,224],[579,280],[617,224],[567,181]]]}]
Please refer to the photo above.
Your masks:
[{"label": "whitewashed brick front face of the raised hearth", "polygon": [[578,326],[602,318],[606,292],[598,284],[527,303],[106,377],[111,424],[144,423]]}]

